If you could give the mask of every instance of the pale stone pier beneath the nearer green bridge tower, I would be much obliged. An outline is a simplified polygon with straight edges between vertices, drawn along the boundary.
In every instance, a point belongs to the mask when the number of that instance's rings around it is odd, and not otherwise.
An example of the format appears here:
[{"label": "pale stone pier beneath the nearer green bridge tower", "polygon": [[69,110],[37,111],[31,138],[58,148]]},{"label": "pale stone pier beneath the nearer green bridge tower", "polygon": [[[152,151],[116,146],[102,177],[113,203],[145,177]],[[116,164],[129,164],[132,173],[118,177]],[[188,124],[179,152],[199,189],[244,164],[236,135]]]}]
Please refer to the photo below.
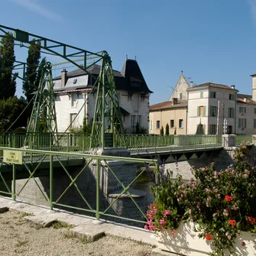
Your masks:
[{"label": "pale stone pier beneath the nearer green bridge tower", "polygon": [[[113,157],[130,157],[130,152],[126,148],[118,147],[108,147],[104,149],[98,149],[97,151],[92,151],[96,155],[107,155]],[[92,177],[96,179],[96,160],[92,161],[89,165],[89,170],[92,173]],[[124,160],[105,160],[101,161],[99,167],[99,189],[100,189],[100,199],[99,199],[99,210],[104,212],[105,209],[112,204],[111,208],[106,214],[117,215],[119,217],[124,217],[127,219],[138,219],[144,221],[144,217],[141,213],[147,211],[147,200],[145,198],[146,193],[142,190],[137,190],[135,188],[135,182],[131,182],[136,178],[138,171],[138,166],[134,162],[127,162]],[[119,183],[119,181],[121,183]],[[127,192],[122,193],[124,187],[122,184],[128,188]],[[90,184],[89,184],[90,186]],[[89,188],[89,193],[96,194],[96,186],[92,184]],[[95,195],[94,195],[95,196]],[[90,196],[91,197],[91,196]],[[131,199],[132,198],[132,199]],[[134,202],[138,207],[134,204]],[[105,217],[100,216],[101,219],[109,219],[115,222],[122,222],[128,225],[139,225],[142,226],[143,223],[138,223],[134,221],[129,221],[125,219],[118,219],[115,217]]]}]

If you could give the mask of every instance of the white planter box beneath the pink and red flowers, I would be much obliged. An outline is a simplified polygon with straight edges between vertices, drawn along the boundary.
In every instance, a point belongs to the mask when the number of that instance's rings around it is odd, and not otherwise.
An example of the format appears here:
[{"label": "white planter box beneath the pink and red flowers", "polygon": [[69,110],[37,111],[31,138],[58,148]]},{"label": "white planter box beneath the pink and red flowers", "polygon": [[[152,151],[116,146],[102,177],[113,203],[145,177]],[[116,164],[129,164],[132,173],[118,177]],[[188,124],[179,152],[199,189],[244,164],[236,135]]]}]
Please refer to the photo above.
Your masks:
[{"label": "white planter box beneath the pink and red flowers", "polygon": [[[196,224],[195,224],[196,225]],[[180,223],[177,228],[177,235],[170,235],[170,232],[160,232],[157,238],[157,248],[167,251],[170,255],[186,255],[186,256],[203,256],[210,255],[214,251],[212,241],[199,238],[199,232],[193,231],[193,223]],[[235,240],[235,253],[238,256],[254,256],[256,255],[256,244],[254,239],[256,236],[251,236],[248,232],[241,232],[240,236]],[[241,246],[241,242],[245,241],[245,246]],[[166,255],[166,254],[164,254]],[[226,251],[225,255],[229,256]]]}]

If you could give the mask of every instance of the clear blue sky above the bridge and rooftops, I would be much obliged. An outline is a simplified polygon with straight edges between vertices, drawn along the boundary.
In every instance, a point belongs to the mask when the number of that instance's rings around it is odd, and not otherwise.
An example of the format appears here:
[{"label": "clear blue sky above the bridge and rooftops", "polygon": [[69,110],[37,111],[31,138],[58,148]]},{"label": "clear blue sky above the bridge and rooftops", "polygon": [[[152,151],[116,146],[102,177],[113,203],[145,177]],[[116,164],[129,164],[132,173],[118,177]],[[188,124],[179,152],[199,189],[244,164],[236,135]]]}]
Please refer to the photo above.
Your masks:
[{"label": "clear blue sky above the bridge and rooftops", "polygon": [[[126,54],[136,56],[154,92],[151,105],[168,100],[181,70],[196,85],[235,85],[251,94],[256,0],[5,0],[1,9],[2,25],[92,52],[107,50],[115,70],[122,70]],[[25,61],[26,54],[17,47],[16,60]]]}]

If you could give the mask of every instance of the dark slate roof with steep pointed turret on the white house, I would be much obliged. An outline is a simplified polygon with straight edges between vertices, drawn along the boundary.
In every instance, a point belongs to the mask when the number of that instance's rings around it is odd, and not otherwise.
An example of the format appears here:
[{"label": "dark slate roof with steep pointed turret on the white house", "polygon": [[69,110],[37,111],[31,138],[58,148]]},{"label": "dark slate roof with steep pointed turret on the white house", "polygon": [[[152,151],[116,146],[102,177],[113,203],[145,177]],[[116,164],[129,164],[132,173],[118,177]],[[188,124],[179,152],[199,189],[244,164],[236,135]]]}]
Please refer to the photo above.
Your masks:
[{"label": "dark slate roof with steep pointed turret on the white house", "polygon": [[[101,66],[95,64],[92,65],[88,71],[92,73],[92,75],[99,76]],[[122,89],[128,92],[141,92],[141,93],[151,93],[152,91],[148,89],[147,83],[144,80],[144,77],[141,73],[141,69],[138,66],[136,60],[125,60],[124,66],[122,67],[122,71],[119,72],[117,70],[113,70],[115,86],[116,89]],[[66,73],[67,79],[77,76],[84,76],[86,72],[84,70],[73,70]],[[61,76],[54,77],[53,80],[60,80]],[[89,83],[87,86],[92,86],[96,81],[95,79],[88,79]],[[77,86],[74,86],[77,87]],[[66,88],[67,89],[67,88]],[[66,90],[65,89],[65,90]],[[70,87],[69,87],[70,89]],[[57,89],[58,91],[60,89]]]}]

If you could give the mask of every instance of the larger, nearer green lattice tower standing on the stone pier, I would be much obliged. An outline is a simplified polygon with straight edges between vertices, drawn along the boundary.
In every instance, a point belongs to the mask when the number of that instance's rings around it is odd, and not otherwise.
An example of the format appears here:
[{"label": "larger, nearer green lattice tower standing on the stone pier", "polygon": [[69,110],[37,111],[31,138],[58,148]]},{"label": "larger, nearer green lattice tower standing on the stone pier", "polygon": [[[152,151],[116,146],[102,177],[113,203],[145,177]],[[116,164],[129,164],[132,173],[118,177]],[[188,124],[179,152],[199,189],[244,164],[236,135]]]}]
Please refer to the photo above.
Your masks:
[{"label": "larger, nearer green lattice tower standing on the stone pier", "polygon": [[90,147],[118,146],[118,140],[123,139],[123,136],[119,136],[122,134],[124,128],[115,89],[112,61],[109,54],[103,52]]}]

